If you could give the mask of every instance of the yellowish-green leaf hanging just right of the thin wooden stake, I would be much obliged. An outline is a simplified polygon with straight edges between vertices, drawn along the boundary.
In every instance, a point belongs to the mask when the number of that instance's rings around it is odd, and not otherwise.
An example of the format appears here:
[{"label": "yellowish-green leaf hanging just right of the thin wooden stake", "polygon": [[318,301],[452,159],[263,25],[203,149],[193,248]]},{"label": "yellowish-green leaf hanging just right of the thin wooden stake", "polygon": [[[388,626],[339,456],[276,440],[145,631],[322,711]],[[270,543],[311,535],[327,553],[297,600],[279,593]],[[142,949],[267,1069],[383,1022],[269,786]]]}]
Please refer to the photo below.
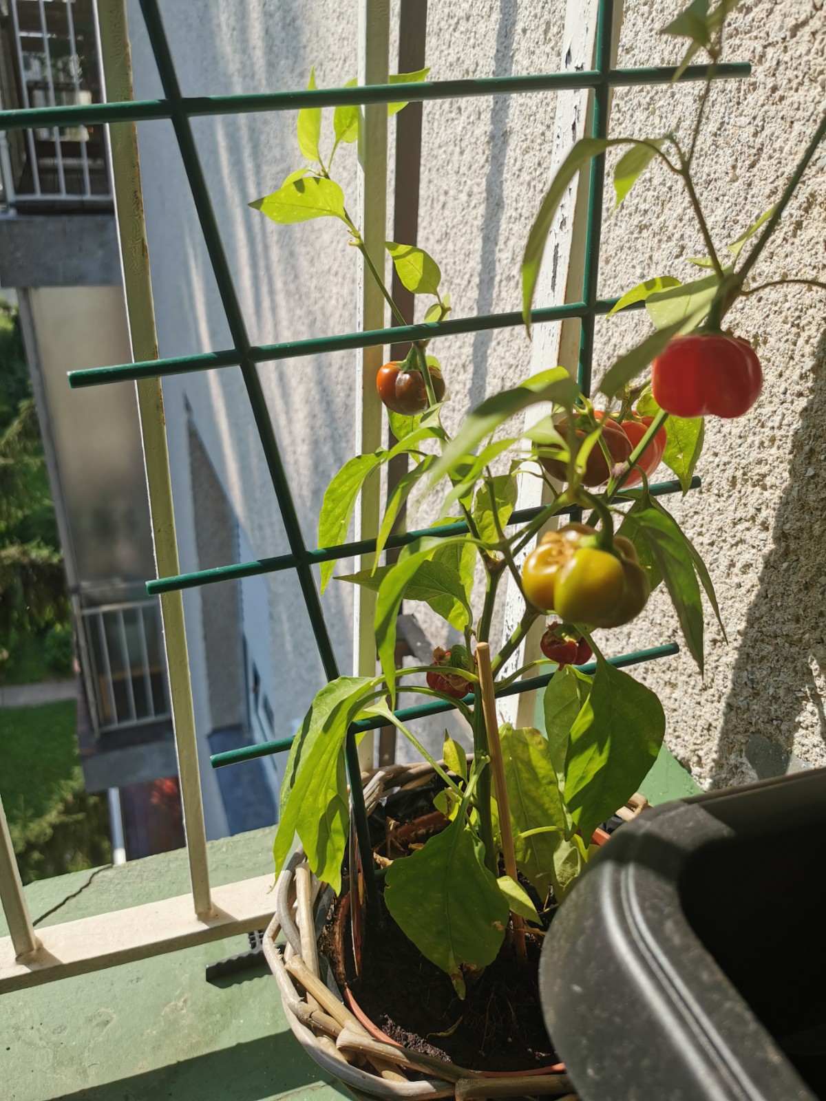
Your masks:
[{"label": "yellowish-green leaf hanging just right of the thin wooden stake", "polygon": [[[548,745],[539,730],[500,731],[517,866],[545,897],[551,886],[553,852],[566,832],[566,816]],[[530,830],[553,827],[554,832],[522,837]]]}]

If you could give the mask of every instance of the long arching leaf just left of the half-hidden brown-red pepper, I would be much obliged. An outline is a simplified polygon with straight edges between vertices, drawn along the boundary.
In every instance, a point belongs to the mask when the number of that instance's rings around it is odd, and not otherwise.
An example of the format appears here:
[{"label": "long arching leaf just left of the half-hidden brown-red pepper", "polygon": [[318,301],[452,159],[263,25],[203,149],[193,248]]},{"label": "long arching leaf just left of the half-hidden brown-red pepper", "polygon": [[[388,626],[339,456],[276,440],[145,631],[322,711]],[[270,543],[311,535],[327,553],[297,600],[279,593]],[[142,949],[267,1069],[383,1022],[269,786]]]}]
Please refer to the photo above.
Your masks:
[{"label": "long arching leaf just left of the half-hidden brown-red pepper", "polygon": [[504,390],[470,412],[458,433],[433,468],[431,487],[465,460],[477,445],[504,421],[537,402],[556,402],[569,408],[579,396],[576,382],[564,367],[540,371],[513,390]]}]

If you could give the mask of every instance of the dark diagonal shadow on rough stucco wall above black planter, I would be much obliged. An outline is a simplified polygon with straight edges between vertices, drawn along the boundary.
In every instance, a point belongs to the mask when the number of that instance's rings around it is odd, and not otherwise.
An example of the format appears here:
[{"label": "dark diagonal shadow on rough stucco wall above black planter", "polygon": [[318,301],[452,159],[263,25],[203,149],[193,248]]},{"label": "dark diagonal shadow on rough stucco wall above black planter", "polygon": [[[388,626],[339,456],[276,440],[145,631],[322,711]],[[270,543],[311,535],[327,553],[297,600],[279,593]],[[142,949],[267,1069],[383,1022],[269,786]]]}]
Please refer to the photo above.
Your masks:
[{"label": "dark diagonal shadow on rough stucco wall above black planter", "polygon": [[[746,762],[761,780],[804,766],[793,753],[800,732],[826,742],[815,679],[826,677],[826,330],[812,373],[812,396],[789,447],[789,480],[774,516],[771,549],[738,645],[713,787],[730,783]],[[760,537],[770,520],[757,520],[752,531]],[[752,517],[747,522],[751,525]]]}]

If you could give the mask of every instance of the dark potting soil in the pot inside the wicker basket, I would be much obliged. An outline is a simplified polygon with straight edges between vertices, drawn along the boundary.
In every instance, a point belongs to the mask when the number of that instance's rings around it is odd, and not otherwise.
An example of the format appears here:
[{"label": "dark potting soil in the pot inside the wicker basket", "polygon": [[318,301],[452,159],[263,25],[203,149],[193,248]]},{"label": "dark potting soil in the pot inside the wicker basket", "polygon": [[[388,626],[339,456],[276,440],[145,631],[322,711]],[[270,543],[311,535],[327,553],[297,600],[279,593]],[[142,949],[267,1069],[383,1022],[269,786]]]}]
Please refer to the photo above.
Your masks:
[{"label": "dark potting soil in the pot inside the wicker basket", "polygon": [[[384,911],[381,927],[366,929],[362,973],[349,985],[370,1020],[404,1047],[474,1070],[533,1070],[558,1059],[542,1021],[541,937],[529,934],[525,947],[520,964],[509,935],[463,1001]],[[352,975],[351,956],[347,970]]]}]

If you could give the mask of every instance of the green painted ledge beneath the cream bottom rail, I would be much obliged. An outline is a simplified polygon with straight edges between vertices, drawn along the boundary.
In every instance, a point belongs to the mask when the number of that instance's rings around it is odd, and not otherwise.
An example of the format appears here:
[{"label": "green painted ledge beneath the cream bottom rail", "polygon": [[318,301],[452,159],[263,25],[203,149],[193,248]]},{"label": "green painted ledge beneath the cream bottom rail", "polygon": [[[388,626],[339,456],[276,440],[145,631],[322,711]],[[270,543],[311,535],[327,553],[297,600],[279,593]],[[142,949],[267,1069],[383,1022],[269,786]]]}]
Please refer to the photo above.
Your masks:
[{"label": "green painted ledge beneath the cream bottom rail", "polygon": [[[213,882],[272,869],[272,829],[209,842]],[[89,880],[25,889],[32,918]],[[39,928],[184,894],[184,850],[99,871]],[[7,935],[0,913],[0,933]],[[232,937],[0,996],[2,1101],[271,1101],[349,1097],[304,1055],[265,966],[221,986],[207,963],[244,951]]]}]

